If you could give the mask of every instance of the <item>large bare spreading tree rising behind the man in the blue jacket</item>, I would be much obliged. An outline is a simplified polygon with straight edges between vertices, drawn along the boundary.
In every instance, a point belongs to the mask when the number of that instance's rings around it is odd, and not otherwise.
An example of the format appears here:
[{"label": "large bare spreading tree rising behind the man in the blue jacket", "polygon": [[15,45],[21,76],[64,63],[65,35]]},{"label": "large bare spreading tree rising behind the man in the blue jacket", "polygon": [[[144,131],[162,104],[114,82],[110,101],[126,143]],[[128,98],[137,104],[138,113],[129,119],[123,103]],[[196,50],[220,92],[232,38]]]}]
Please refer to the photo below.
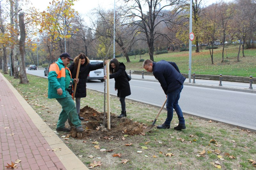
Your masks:
[{"label": "large bare spreading tree rising behind the man in the blue jacket", "polygon": [[[156,32],[155,28],[161,22],[169,23],[167,7],[180,4],[182,0],[124,0],[127,8],[124,9],[124,18],[132,18],[132,22],[127,23],[128,26],[134,26],[137,33],[143,33],[143,39],[148,44],[150,60],[154,61],[154,41],[158,36],[165,36]],[[160,3],[165,5],[161,6]],[[144,6],[147,13],[144,12]],[[159,18],[159,20],[157,20]]]}]

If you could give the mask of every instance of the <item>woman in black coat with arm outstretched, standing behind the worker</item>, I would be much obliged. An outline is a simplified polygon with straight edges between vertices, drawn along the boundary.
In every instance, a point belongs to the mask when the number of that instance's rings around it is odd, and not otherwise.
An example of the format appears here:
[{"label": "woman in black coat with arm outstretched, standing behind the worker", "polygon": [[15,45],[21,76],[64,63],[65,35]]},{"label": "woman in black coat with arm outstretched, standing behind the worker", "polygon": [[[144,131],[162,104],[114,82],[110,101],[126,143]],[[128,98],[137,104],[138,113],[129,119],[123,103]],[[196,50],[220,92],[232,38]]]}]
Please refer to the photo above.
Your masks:
[{"label": "woman in black coat with arm outstretched, standing behind the worker", "polygon": [[78,68],[79,59],[81,59],[80,70],[78,74],[79,82],[76,85],[76,112],[80,120],[84,120],[83,117],[80,117],[80,100],[83,97],[86,97],[86,80],[87,76],[92,70],[97,70],[103,67],[103,62],[99,64],[90,64],[90,60],[84,54],[80,54],[75,57],[74,62],[68,67],[72,78],[76,78],[76,72]]}]

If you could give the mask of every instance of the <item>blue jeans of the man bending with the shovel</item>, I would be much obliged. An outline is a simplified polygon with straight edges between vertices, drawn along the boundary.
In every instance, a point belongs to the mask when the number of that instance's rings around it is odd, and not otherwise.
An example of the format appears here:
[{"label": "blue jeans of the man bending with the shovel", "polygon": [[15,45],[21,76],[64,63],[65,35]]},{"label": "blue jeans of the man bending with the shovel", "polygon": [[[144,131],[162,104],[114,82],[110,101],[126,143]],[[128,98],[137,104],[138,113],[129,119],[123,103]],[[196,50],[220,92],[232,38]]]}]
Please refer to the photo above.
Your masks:
[{"label": "blue jeans of the man bending with the shovel", "polygon": [[172,121],[173,109],[175,110],[175,112],[178,115],[179,124],[185,123],[183,113],[178,104],[178,101],[180,99],[180,92],[182,89],[183,89],[183,85],[181,85],[180,88],[176,89],[175,91],[167,93],[167,101],[166,101],[167,118],[164,122],[164,124],[166,124],[166,125],[170,125],[170,123]]}]

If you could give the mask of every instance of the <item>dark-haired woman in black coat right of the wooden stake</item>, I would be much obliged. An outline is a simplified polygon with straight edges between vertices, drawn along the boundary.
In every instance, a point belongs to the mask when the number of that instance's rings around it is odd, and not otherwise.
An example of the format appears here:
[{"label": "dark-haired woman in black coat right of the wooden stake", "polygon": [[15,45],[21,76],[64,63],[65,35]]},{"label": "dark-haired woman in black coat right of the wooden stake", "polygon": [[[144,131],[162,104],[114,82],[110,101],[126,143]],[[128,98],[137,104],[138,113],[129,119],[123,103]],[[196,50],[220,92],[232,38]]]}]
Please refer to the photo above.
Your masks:
[{"label": "dark-haired woman in black coat right of the wooden stake", "polygon": [[[125,75],[124,63],[119,63],[116,58],[113,58],[109,62],[109,72],[109,78],[115,78],[115,90],[117,90],[117,97],[119,97],[121,102],[121,115],[117,117],[126,117],[125,97],[131,95],[131,89],[129,81]],[[104,79],[107,79],[107,76],[104,76]]]}]

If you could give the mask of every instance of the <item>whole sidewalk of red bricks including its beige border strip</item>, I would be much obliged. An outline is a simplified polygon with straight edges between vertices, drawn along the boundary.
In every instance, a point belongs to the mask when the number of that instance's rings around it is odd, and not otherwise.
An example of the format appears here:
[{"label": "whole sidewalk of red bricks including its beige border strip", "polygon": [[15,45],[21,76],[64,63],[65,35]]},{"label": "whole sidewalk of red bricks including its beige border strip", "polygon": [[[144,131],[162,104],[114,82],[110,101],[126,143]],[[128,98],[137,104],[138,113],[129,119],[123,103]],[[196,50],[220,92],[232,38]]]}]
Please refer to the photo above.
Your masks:
[{"label": "whole sidewalk of red bricks including its beige border strip", "polygon": [[0,73],[0,169],[16,159],[23,170],[88,169]]}]

